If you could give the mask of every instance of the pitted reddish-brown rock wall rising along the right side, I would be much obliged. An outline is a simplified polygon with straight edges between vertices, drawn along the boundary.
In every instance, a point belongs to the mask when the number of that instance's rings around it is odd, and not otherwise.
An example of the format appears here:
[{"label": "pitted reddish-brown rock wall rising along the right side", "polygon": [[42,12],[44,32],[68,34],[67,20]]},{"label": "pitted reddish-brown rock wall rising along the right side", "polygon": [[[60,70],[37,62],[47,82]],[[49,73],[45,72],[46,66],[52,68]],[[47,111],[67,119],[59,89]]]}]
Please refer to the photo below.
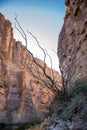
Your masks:
[{"label": "pitted reddish-brown rock wall rising along the right side", "polygon": [[63,83],[69,89],[76,80],[87,79],[87,0],[65,0],[65,4],[58,56]]}]

